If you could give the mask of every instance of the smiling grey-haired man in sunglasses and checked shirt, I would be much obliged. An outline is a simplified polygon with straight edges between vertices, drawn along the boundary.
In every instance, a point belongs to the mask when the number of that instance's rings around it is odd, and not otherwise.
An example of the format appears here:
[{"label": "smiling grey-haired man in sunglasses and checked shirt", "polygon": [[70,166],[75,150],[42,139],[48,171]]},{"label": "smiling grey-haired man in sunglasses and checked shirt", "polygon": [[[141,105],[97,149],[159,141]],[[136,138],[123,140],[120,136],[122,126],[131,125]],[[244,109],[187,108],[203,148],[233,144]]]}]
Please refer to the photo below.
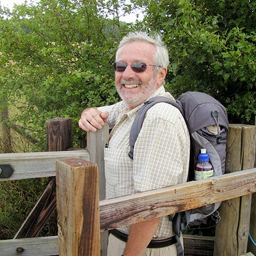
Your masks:
[{"label": "smiling grey-haired man in sunglasses and checked shirt", "polygon": [[[122,101],[82,112],[79,126],[86,132],[96,132],[105,122],[112,129],[104,152],[107,198],[187,181],[189,133],[180,111],[170,104],[161,102],[147,111],[134,159],[128,156],[130,128],[143,102],[157,95],[172,98],[163,87],[168,65],[168,51],[159,36],[128,34],[119,44],[114,65]],[[165,216],[121,227],[110,233],[108,256],[176,255],[171,226]],[[152,248],[151,240],[157,240],[158,248]]]}]

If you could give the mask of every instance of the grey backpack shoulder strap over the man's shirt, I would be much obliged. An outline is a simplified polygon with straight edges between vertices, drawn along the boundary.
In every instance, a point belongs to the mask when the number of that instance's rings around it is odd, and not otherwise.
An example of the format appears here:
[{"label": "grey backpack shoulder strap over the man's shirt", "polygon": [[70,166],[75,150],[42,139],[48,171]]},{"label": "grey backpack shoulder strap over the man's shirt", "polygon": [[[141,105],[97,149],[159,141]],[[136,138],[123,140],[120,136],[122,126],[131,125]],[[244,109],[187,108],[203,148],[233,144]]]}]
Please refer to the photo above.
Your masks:
[{"label": "grey backpack shoulder strap over the man's shirt", "polygon": [[139,111],[134,119],[134,122],[132,124],[132,128],[130,130],[130,152],[129,152],[130,158],[134,159],[134,145],[135,145],[135,142],[139,135],[139,132],[141,131],[141,127],[143,125],[146,111],[148,111],[152,106],[154,106],[155,104],[160,103],[160,102],[169,103],[172,106],[175,106],[176,108],[178,108],[182,113],[181,106],[174,100],[169,99],[167,97],[157,96],[157,97],[153,97],[153,98],[149,99],[148,101],[144,102],[144,105],[139,109]]}]

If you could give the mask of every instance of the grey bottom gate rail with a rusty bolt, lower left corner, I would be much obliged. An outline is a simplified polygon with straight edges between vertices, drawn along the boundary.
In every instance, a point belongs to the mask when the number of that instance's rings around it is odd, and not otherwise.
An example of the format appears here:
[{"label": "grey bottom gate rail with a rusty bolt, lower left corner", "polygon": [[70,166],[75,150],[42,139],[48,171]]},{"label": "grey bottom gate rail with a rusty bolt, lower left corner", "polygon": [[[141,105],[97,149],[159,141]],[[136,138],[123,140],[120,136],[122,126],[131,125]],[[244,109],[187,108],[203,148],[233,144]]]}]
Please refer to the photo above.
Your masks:
[{"label": "grey bottom gate rail with a rusty bolt, lower left corner", "polygon": [[[17,252],[21,251],[20,253]],[[0,240],[0,256],[58,255],[58,237]]]}]

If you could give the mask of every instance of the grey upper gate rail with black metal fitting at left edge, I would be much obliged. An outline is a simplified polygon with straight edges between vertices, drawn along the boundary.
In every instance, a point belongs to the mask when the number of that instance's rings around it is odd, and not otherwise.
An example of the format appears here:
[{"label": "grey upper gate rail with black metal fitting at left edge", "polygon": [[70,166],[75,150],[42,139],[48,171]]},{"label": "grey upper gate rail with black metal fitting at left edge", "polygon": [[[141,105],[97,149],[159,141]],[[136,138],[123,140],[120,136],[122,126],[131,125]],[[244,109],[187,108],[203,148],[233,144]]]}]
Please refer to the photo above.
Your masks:
[{"label": "grey upper gate rail with black metal fitting at left edge", "polygon": [[69,157],[89,161],[87,150],[0,154],[0,163],[14,168],[10,178],[0,178],[0,181],[55,176],[56,160]]}]

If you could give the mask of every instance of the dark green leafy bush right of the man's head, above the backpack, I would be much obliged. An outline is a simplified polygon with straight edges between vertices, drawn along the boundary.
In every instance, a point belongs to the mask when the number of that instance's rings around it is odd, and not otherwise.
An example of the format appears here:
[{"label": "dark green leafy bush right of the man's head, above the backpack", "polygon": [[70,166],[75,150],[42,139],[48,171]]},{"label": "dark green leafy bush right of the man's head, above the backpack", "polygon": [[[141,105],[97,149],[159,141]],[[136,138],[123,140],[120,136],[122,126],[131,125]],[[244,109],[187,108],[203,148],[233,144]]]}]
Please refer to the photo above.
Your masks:
[{"label": "dark green leafy bush right of the man's head, above the backpack", "polygon": [[204,91],[227,107],[231,123],[254,124],[255,1],[150,1],[147,30],[169,46],[174,95]]}]

